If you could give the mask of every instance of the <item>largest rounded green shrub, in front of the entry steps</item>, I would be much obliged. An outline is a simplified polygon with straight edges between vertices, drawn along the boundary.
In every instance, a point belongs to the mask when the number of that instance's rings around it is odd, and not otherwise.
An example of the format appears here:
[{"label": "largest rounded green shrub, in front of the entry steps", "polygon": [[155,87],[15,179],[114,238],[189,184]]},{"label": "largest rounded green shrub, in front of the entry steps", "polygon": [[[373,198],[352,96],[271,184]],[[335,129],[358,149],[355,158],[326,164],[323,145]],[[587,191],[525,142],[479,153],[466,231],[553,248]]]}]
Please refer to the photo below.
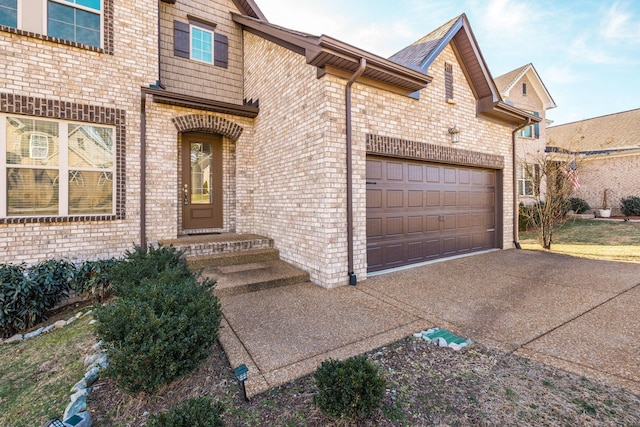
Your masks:
[{"label": "largest rounded green shrub, in front of the entry steps", "polygon": [[107,375],[125,390],[153,392],[209,356],[222,312],[214,282],[179,267],[128,283],[120,298],[96,308],[96,335],[109,355]]}]

